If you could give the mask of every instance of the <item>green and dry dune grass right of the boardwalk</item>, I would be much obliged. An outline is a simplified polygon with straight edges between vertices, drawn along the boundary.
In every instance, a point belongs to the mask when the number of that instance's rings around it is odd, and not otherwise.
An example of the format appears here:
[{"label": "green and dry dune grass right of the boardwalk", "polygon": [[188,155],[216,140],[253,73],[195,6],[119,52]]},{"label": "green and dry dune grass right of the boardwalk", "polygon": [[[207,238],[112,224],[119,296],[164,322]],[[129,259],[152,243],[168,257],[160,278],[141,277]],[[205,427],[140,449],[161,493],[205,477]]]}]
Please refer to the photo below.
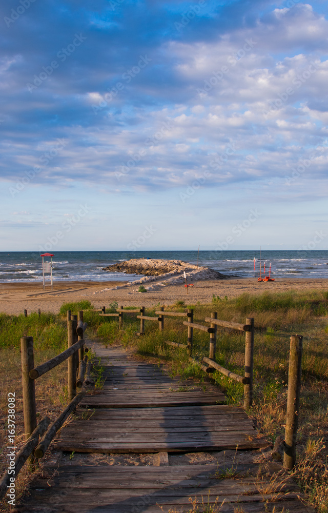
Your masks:
[{"label": "green and dry dune grass right of the boardwalk", "polygon": [[[146,315],[157,317],[154,308]],[[290,336],[303,335],[302,386],[297,445],[297,465],[293,476],[319,513],[328,512],[328,295],[326,291],[309,294],[286,292],[264,293],[259,296],[242,294],[236,299],[213,298],[211,305],[185,305],[179,301],[166,306],[167,311],[186,311],[194,308],[194,322],[216,311],[218,319],[243,323],[245,318],[255,319],[254,347],[254,404],[249,415],[258,431],[274,443],[284,435],[285,409],[288,383]],[[145,335],[136,338],[139,321],[135,315],[125,315],[124,331],[111,319],[97,328],[97,336],[106,345],[121,341],[140,356],[169,362],[172,374],[209,378],[199,366],[189,362],[184,349],[173,348],[165,340],[187,342],[187,327],[181,318],[166,317],[165,330],[159,332],[156,322],[145,321]],[[193,356],[199,360],[209,354],[209,335],[194,330]],[[216,361],[224,367],[243,373],[244,333],[218,328]],[[228,402],[242,404],[243,387],[222,374],[212,375],[214,383],[223,388]]]}]

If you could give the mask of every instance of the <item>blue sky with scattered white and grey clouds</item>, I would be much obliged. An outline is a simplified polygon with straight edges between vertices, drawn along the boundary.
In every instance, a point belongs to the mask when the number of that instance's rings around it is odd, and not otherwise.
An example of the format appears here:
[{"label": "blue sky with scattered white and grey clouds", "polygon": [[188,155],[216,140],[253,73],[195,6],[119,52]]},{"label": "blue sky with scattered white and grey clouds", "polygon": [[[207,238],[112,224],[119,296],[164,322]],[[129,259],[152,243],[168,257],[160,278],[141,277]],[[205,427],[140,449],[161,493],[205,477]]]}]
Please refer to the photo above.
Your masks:
[{"label": "blue sky with scattered white and grey clouds", "polygon": [[0,251],[328,249],[327,6],[4,0]]}]

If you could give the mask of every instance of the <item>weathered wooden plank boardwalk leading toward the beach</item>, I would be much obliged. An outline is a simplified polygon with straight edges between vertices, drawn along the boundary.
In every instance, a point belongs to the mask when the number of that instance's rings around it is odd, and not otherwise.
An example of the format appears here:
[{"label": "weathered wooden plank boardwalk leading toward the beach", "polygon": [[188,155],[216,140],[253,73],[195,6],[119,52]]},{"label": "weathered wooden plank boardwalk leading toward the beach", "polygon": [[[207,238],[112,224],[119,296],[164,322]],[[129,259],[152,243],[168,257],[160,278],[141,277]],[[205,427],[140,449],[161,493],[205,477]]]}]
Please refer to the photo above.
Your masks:
[{"label": "weathered wooden plank boardwalk leading toward the beach", "polygon": [[161,365],[134,361],[122,348],[98,346],[97,354],[105,367],[104,389],[80,404],[84,415],[61,430],[56,450],[161,452],[162,466],[75,465],[74,460],[50,466],[44,479],[32,483],[20,513],[168,513],[188,511],[190,498],[201,503],[202,496],[206,505],[217,500],[213,513],[314,511],[298,499],[292,480],[277,477],[281,466],[274,463],[239,462],[233,470],[222,462],[169,465],[167,452],[255,449],[267,442],[242,408],[223,404],[216,387],[172,379]]}]

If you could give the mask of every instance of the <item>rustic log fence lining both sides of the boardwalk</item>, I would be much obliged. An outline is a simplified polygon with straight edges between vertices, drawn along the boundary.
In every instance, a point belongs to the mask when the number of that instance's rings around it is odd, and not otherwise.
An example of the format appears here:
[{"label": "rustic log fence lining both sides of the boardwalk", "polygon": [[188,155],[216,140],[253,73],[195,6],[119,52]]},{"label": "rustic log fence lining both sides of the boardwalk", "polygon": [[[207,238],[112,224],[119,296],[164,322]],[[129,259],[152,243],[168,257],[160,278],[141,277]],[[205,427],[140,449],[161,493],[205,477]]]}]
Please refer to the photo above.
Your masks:
[{"label": "rustic log fence lining both sides of the boardwalk", "polygon": [[[189,360],[198,363],[203,371],[211,373],[217,370],[225,376],[228,376],[229,378],[242,383],[244,385],[244,408],[248,409],[252,405],[255,332],[253,318],[247,318],[245,324],[234,323],[219,320],[217,319],[217,312],[212,312],[211,317],[206,317],[204,319],[204,322],[210,324],[210,326],[207,326],[193,322],[193,309],[188,309],[187,312],[167,312],[164,311],[163,307],[160,307],[155,311],[155,314],[158,315],[158,317],[148,317],[145,315],[144,306],[134,310],[127,310],[121,306],[116,310],[117,313],[106,313],[105,307],[97,311],[101,311],[99,314],[101,316],[117,317],[119,320],[120,328],[123,325],[124,314],[140,313],[140,315],[137,315],[137,319],[140,319],[140,331],[136,333],[138,336],[145,334],[145,321],[157,321],[159,330],[163,331],[165,316],[186,317],[188,320],[183,321],[182,324],[187,327],[187,344],[165,341],[166,344],[173,347],[186,349]],[[27,315],[27,312],[25,314]],[[217,326],[245,332],[244,376],[239,376],[235,372],[232,372],[215,362]],[[27,440],[15,458],[15,476],[17,476],[17,473],[27,460],[29,460],[31,463],[34,461],[34,458],[31,456],[33,451],[34,457],[37,459],[44,456],[57,430],[63,425],[70,413],[75,410],[77,404],[84,397],[85,393],[87,392],[87,386],[94,384],[90,378],[91,363],[88,362],[87,354],[84,354],[85,352],[88,352],[88,349],[84,348],[85,340],[83,338],[86,328],[87,324],[83,322],[83,311],[78,312],[78,315],[71,315],[71,311],[68,310],[68,348],[60,354],[57,354],[57,356],[51,360],[48,360],[44,364],[37,367],[34,367],[33,337],[22,337],[22,339],[20,339],[24,426]],[[210,334],[209,357],[203,357],[202,359],[203,363],[206,365],[197,361],[191,356],[193,349],[194,329],[205,331]],[[283,466],[286,469],[292,469],[295,465],[296,459],[295,448],[299,415],[302,340],[302,336],[299,335],[294,335],[291,337],[285,437],[284,440],[282,437],[278,437],[272,452],[273,459],[281,460],[283,458]],[[36,424],[34,380],[40,378],[43,376],[43,374],[53,369],[65,360],[68,360],[68,397],[70,402],[52,424],[50,424],[50,419],[48,417],[45,417],[42,421]],[[80,389],[79,393],[77,393],[77,388]],[[41,436],[43,438],[39,441],[39,437]],[[2,481],[0,482],[0,499],[4,497],[7,492],[9,478],[10,475],[6,471]]]}]

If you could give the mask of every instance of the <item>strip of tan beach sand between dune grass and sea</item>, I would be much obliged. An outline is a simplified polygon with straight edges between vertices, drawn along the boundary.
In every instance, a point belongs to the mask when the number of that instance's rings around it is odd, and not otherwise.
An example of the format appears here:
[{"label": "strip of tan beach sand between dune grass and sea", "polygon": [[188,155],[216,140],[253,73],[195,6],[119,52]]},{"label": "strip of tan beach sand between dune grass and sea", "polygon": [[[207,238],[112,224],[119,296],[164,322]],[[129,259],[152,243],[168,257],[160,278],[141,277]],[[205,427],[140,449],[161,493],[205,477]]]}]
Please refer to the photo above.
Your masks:
[{"label": "strip of tan beach sand between dune grass and sea", "polygon": [[[274,282],[258,282],[257,278],[235,278],[229,280],[207,280],[194,283],[194,287],[187,290],[182,284],[156,286],[148,292],[138,292],[139,285],[132,285],[120,289],[112,289],[126,282],[57,282],[53,291],[50,287],[43,290],[42,283],[0,283],[0,312],[9,314],[28,313],[37,311],[57,313],[63,303],[71,301],[89,300],[95,308],[108,306],[117,301],[122,306],[153,306],[172,305],[183,300],[186,304],[211,303],[213,294],[221,299],[235,298],[247,292],[261,294],[264,291],[310,291],[328,290],[328,279],[276,279]],[[104,290],[108,289],[108,290]],[[103,291],[101,291],[103,290]]]}]

